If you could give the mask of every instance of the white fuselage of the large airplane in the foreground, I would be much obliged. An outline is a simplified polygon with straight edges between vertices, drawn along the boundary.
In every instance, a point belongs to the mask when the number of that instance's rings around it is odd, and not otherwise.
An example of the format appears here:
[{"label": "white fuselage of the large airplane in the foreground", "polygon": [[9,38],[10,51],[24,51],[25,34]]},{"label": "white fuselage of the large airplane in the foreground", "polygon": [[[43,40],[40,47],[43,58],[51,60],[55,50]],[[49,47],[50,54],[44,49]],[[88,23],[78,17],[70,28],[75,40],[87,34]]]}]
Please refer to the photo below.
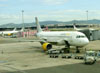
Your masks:
[{"label": "white fuselage of the large airplane in the foreground", "polygon": [[66,45],[67,41],[70,46],[85,46],[89,43],[87,37],[77,31],[56,31],[56,32],[39,32],[37,37],[45,40],[46,42],[57,43],[59,45]]}]

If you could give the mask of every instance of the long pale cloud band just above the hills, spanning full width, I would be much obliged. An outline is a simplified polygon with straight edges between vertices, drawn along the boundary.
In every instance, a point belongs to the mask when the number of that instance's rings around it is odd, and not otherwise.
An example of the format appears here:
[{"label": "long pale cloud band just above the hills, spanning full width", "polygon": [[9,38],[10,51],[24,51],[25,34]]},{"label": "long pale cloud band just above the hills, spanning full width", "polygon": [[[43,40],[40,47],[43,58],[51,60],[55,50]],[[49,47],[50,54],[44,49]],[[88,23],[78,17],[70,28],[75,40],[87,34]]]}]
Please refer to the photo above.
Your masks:
[{"label": "long pale cloud band just above the hills, spanning full width", "polygon": [[[39,21],[71,21],[86,20],[86,10],[39,10],[24,14],[25,23],[31,23],[34,17]],[[89,10],[89,20],[100,19],[100,10]],[[21,14],[0,14],[0,24],[22,23]]]}]

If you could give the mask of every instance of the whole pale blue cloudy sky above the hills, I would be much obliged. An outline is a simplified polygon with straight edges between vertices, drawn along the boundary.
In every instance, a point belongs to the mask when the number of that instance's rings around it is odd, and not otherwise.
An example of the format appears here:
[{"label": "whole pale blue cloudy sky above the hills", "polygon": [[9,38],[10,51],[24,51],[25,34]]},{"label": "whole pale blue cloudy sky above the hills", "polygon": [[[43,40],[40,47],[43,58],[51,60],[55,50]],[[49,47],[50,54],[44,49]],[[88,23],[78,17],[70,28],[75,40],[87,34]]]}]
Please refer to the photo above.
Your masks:
[{"label": "whole pale blue cloudy sky above the hills", "polygon": [[0,0],[0,25],[39,21],[100,19],[100,0]]}]

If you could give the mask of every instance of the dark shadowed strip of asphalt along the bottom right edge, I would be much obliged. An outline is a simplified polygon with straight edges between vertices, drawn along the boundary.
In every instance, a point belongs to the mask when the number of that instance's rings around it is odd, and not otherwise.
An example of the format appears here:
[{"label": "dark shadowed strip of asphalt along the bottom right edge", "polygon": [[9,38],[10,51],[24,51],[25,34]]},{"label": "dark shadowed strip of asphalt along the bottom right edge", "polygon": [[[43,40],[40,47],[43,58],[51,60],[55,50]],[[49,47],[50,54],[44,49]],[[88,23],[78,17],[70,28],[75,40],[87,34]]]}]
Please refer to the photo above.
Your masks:
[{"label": "dark shadowed strip of asphalt along the bottom right edge", "polygon": [[[71,64],[55,67],[39,68],[25,70],[25,73],[100,73],[100,62],[93,65],[85,64]],[[6,73],[19,73],[19,72],[6,72]]]}]

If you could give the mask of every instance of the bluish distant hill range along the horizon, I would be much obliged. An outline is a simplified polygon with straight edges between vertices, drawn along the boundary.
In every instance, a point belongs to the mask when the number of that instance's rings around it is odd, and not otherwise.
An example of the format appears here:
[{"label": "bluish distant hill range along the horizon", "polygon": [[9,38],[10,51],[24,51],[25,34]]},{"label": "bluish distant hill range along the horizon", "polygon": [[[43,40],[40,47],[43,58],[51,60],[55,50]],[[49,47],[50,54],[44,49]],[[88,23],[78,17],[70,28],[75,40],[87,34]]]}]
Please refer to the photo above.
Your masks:
[{"label": "bluish distant hill range along the horizon", "polygon": [[[40,22],[40,25],[48,25],[48,24],[100,24],[100,20],[93,19],[93,20],[73,20],[73,21],[68,21],[68,22],[62,22],[62,21],[42,21]],[[25,27],[32,27],[36,26],[35,23],[24,23]],[[8,23],[5,25],[0,25],[0,28],[21,28],[23,27],[23,24],[14,24],[14,23]]]}]

